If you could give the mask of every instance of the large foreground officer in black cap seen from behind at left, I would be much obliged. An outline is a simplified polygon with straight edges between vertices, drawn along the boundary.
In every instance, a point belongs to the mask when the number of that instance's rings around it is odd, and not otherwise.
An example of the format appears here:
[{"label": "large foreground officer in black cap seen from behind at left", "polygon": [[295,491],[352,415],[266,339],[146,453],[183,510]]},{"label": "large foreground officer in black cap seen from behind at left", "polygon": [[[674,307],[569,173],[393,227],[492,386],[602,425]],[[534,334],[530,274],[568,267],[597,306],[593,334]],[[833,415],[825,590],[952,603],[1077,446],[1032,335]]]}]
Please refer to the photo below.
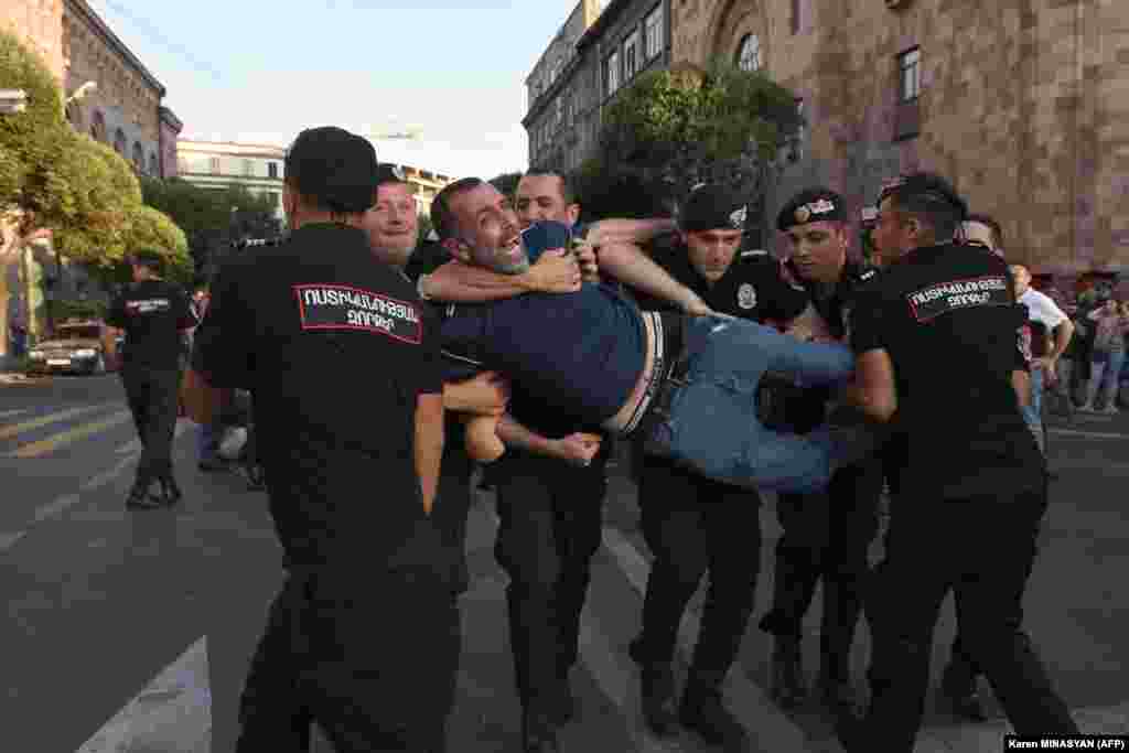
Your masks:
[{"label": "large foreground officer in black cap seen from behind at left", "polygon": [[335,128],[286,159],[289,240],[225,265],[196,332],[186,403],[250,388],[288,578],[252,660],[239,753],[443,748],[458,615],[429,519],[443,444],[431,324],[360,229],[376,154]]}]

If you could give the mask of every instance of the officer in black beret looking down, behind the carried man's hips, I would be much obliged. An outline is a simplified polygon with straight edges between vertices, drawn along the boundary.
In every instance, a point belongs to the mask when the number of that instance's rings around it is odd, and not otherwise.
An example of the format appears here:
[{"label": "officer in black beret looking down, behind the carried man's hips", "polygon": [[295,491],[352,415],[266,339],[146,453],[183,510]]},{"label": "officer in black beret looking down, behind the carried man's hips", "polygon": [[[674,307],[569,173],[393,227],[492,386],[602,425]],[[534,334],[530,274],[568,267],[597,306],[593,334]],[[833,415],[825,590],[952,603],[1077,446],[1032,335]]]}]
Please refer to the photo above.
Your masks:
[{"label": "officer in black beret looking down, behind the carried man's hips", "polygon": [[[718,185],[699,186],[679,218],[673,243],[659,238],[651,257],[721,314],[763,322],[791,319],[807,294],[788,286],[778,261],[741,252],[745,203]],[[667,304],[639,295],[649,310]],[[676,721],[711,744],[739,745],[745,733],[725,708],[720,688],[737,656],[760,570],[760,498],[692,473],[666,458],[638,463],[640,525],[655,555],[644,601],[642,631],[630,647],[642,673],[642,709],[653,732]],[[690,676],[675,712],[672,662],[679,623],[706,572],[709,592]]]}]

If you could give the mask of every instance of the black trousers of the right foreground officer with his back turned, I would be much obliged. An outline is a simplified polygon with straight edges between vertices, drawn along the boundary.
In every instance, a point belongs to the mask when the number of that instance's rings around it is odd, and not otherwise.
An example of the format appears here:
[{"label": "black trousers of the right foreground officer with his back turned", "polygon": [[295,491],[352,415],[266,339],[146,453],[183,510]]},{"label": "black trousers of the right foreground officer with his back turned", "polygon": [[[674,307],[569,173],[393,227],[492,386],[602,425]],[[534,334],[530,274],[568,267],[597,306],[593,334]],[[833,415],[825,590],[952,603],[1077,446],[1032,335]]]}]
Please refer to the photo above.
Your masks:
[{"label": "black trousers of the right foreground officer with his back turned", "polygon": [[1016,733],[1077,733],[1016,620],[1045,506],[1045,490],[899,501],[867,602],[872,704],[859,750],[913,750],[929,685],[933,630],[949,589],[966,607],[965,648],[988,675]]}]

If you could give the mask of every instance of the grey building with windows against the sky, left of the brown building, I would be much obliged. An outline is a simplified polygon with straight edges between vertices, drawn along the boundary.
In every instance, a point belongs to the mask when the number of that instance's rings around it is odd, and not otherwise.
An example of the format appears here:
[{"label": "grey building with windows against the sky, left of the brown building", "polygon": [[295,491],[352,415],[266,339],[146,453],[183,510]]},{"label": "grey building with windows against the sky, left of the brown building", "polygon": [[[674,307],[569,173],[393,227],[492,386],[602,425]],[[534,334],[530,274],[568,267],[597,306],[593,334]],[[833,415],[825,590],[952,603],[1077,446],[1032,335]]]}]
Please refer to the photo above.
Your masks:
[{"label": "grey building with windows against the sky, left of the brown building", "polygon": [[568,173],[593,155],[603,107],[669,67],[669,18],[671,0],[581,0],[526,80],[531,167]]}]

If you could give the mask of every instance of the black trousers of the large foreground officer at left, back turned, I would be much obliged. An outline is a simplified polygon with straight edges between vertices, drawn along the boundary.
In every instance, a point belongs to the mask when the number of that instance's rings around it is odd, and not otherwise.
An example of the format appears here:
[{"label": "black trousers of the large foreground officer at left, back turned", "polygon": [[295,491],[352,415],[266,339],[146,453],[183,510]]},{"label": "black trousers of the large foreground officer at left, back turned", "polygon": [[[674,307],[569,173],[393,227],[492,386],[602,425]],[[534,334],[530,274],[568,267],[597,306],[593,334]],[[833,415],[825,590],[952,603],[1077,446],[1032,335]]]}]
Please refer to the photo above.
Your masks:
[{"label": "black trousers of the large foreground officer at left, back turned", "polygon": [[441,753],[458,612],[436,572],[290,575],[244,688],[236,753]]}]

